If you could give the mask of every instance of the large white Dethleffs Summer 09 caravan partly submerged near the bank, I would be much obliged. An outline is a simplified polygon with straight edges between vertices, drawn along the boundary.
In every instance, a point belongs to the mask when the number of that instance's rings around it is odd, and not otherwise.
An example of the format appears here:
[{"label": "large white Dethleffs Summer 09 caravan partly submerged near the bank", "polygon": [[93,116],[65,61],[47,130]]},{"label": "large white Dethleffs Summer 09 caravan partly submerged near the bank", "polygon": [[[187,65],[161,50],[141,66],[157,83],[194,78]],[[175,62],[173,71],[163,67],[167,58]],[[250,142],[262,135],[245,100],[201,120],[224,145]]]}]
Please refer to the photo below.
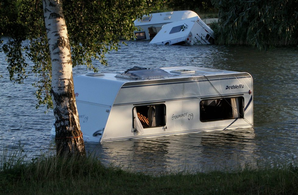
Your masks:
[{"label": "large white Dethleffs Summer 09 caravan partly submerged near the bank", "polygon": [[253,79],[246,72],[134,67],[73,80],[87,141],[253,127]]}]

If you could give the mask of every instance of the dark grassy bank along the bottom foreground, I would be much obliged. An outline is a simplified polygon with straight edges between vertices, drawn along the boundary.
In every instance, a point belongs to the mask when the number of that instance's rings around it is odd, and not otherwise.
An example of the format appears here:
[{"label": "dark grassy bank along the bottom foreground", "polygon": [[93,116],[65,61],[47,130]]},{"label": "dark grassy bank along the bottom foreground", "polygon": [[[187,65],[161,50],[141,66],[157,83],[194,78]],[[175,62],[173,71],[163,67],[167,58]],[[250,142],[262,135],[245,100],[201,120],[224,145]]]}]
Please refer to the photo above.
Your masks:
[{"label": "dark grassy bank along the bottom foreground", "polygon": [[104,167],[98,160],[0,158],[0,194],[298,194],[293,163],[160,176]]}]

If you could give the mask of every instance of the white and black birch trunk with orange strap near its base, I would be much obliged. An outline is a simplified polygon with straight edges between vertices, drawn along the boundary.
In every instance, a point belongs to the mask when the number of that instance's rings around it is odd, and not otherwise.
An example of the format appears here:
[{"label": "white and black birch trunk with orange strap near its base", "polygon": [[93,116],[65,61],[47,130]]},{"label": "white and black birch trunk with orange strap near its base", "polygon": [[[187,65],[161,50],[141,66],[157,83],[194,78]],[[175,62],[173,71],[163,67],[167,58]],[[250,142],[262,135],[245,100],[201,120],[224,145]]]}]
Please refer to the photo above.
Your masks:
[{"label": "white and black birch trunk with orange strap near its base", "polygon": [[73,88],[71,50],[61,0],[42,0],[52,64],[57,155],[85,156]]}]

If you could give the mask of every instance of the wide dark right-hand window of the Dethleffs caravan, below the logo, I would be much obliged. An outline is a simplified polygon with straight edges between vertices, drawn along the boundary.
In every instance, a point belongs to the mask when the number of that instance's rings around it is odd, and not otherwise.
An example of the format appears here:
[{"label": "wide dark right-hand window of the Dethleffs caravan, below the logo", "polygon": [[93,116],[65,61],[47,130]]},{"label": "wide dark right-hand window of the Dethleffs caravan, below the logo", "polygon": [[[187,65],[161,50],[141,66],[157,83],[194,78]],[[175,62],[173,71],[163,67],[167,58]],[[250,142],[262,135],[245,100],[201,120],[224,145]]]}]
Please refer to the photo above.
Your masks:
[{"label": "wide dark right-hand window of the Dethleffs caravan, below the logo", "polygon": [[244,117],[243,97],[206,99],[200,102],[202,122]]}]

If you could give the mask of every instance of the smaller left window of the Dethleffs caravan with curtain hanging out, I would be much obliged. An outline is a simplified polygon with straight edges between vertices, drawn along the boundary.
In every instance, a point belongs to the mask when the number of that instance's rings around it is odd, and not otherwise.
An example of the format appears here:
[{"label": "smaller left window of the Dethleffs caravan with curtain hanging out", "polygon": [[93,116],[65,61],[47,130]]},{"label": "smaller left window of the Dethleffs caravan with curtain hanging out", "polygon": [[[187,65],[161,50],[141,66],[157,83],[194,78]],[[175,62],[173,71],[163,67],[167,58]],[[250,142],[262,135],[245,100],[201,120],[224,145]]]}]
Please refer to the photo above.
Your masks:
[{"label": "smaller left window of the Dethleffs caravan with curtain hanging out", "polygon": [[164,104],[136,106],[133,108],[133,113],[135,128],[139,122],[143,128],[165,126]]}]

